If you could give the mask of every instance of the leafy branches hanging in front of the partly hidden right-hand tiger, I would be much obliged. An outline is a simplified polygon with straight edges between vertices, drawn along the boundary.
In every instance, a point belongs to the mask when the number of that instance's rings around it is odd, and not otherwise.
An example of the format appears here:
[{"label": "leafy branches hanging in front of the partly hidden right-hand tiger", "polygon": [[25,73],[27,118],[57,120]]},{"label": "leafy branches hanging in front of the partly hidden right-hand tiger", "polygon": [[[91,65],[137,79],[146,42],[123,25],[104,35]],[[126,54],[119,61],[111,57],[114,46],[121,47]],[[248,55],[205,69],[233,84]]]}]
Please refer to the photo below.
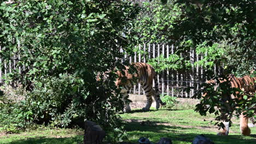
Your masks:
[{"label": "leafy branches hanging in front of the partly hidden right-hand tiger", "polygon": [[[207,53],[201,61],[192,63],[202,65],[206,70],[203,75],[206,80],[215,80],[212,85],[202,85],[203,90],[198,91],[197,98],[202,92],[207,92],[197,105],[197,111],[202,115],[206,112],[215,113],[218,120],[230,120],[232,113],[247,111],[248,116],[255,113],[255,95],[248,98],[245,93],[235,94],[238,89],[230,88],[229,82],[220,83],[228,74],[236,76],[248,75],[255,70],[255,25],[253,20],[253,1],[170,1],[179,8],[181,13],[177,19],[172,20],[172,27],[167,29],[170,42],[178,46],[174,55],[183,59],[168,63],[166,58],[158,58],[160,69],[188,68],[183,67],[190,60],[186,55],[191,47],[196,47],[198,55]],[[166,4],[166,2],[162,2]],[[164,14],[164,13],[163,13]],[[179,59],[179,58],[177,58]],[[167,62],[167,64],[166,64]],[[223,73],[214,73],[213,66],[222,67]],[[223,102],[225,95],[236,95],[235,99]],[[243,98],[243,99],[241,99]],[[223,107],[231,106],[230,111],[223,111]],[[240,107],[235,109],[235,107]],[[249,114],[250,113],[250,114]],[[222,116],[220,116],[222,114]]]}]

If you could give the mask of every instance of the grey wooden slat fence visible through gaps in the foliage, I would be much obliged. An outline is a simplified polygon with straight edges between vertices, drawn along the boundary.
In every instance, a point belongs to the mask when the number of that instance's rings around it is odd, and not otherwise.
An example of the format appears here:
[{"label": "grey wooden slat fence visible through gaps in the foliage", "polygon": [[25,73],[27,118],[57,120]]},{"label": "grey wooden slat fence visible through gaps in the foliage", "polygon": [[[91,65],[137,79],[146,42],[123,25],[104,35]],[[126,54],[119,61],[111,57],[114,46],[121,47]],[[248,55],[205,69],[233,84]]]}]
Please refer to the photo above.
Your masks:
[{"label": "grey wooden slat fence visible through gaps in the foliage", "polygon": [[[18,41],[18,47],[20,47]],[[138,45],[139,51],[144,52],[135,52],[134,56],[127,55],[124,52],[124,58],[129,59],[130,63],[132,62],[144,62],[147,63],[147,59],[156,58],[160,55],[168,58],[173,54],[177,49],[173,45],[160,45],[160,44],[142,44]],[[0,46],[1,51],[1,46]],[[203,58],[202,55],[196,55],[195,50],[188,52],[190,55],[191,63],[199,61]],[[22,71],[22,67],[16,67],[16,59],[20,59],[20,56],[14,56],[13,60],[6,61],[3,58],[0,58],[0,83],[3,83],[2,77],[8,77],[8,73],[11,73],[12,70],[19,70],[19,73]],[[214,68],[216,73],[219,73],[219,69]],[[194,95],[194,91],[199,89],[200,84],[205,82],[203,74],[205,70],[199,65],[196,65],[190,70],[176,71],[176,70],[165,70],[158,74],[158,83],[159,90],[163,95],[171,95],[173,97],[182,97],[182,98],[191,98]],[[11,83],[10,83],[11,84]],[[15,83],[13,83],[15,85]],[[153,83],[154,85],[154,83]],[[185,92],[185,88],[194,87],[189,93]],[[144,94],[144,91],[140,85],[133,86],[130,93],[133,94]]]}]

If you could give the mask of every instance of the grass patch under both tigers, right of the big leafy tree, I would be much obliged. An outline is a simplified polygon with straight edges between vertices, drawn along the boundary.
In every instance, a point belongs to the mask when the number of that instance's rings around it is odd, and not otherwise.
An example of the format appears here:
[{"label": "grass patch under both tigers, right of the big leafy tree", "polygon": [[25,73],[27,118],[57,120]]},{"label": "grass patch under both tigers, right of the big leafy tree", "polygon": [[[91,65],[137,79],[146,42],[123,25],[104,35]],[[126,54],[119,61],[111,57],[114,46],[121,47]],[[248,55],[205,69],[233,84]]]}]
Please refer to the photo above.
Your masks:
[{"label": "grass patch under both tigers, right of the big leafy tree", "polygon": [[[157,142],[161,137],[169,137],[174,144],[189,143],[196,135],[206,135],[214,143],[256,143],[256,128],[251,128],[251,136],[240,135],[239,119],[233,118],[234,124],[229,136],[217,136],[218,127],[214,125],[213,115],[200,116],[194,110],[152,110],[141,112],[133,110],[132,113],[122,115],[126,119],[126,130],[130,142],[137,142],[139,137],[148,137]],[[132,119],[132,120],[131,120]],[[149,121],[149,122],[148,122]],[[147,124],[141,125],[142,122]]]}]

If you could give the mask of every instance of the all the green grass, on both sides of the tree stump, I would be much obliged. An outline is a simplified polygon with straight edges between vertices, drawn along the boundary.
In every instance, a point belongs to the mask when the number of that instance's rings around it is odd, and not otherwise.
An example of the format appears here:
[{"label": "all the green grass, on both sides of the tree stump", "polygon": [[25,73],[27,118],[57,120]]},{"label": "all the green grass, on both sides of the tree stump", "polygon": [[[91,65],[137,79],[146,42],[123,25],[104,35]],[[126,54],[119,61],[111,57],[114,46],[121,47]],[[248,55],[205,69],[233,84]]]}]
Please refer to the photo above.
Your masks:
[{"label": "all the green grass, on both sides of the tree stump", "polygon": [[[239,130],[239,119],[234,118],[229,136],[217,136],[219,130],[214,126],[213,115],[203,117],[192,109],[153,109],[149,112],[132,110],[131,113],[124,113],[121,117],[126,122],[127,142],[137,143],[140,137],[148,137],[150,141],[157,142],[160,137],[169,137],[174,144],[191,144],[196,135],[204,134],[216,144],[256,143],[256,128],[251,128],[253,135],[242,136]],[[141,125],[143,122],[146,123]],[[43,128],[19,134],[0,133],[0,143],[83,143],[83,130]]]}]

